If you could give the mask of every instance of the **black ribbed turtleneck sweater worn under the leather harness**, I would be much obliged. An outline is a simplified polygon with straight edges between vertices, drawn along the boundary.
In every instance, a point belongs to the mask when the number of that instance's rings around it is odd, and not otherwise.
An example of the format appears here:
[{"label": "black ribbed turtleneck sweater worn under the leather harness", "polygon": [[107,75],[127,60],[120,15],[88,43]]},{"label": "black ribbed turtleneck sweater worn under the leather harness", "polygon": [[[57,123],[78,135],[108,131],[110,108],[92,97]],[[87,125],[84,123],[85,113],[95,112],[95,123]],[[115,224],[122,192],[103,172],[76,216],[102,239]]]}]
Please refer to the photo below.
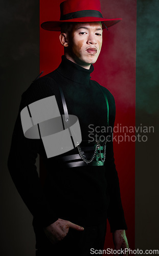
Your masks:
[{"label": "black ribbed turtleneck sweater worn under the leather harness", "polygon": [[[34,216],[34,224],[48,226],[61,218],[84,226],[96,225],[108,218],[111,231],[127,228],[112,141],[107,142],[104,166],[66,168],[61,165],[60,156],[47,158],[41,139],[25,138],[22,132],[20,112],[30,103],[55,95],[59,111],[63,114],[54,79],[63,90],[69,114],[79,119],[82,141],[93,141],[96,134],[98,138],[106,136],[103,129],[107,127],[107,106],[97,82],[90,80],[93,70],[93,65],[87,70],[62,56],[55,71],[36,79],[22,94],[8,168],[20,196]],[[109,102],[109,126],[113,127],[115,100],[107,89],[104,90]],[[98,132],[93,133],[90,127],[97,126]],[[90,133],[93,133],[91,137]],[[78,154],[77,147],[61,156],[75,152]],[[44,165],[46,178],[42,180],[43,185],[35,166],[37,154]]]}]

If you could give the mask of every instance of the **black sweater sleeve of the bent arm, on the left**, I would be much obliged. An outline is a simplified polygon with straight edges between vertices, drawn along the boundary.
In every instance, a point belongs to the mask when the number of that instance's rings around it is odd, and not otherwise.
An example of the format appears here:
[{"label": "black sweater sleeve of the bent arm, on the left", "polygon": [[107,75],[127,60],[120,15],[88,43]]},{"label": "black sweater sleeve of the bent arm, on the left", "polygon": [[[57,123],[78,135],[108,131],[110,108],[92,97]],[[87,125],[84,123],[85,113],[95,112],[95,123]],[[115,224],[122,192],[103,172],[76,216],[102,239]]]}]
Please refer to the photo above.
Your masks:
[{"label": "black sweater sleeve of the bent arm, on the left", "polygon": [[[39,79],[40,80],[40,79]],[[41,140],[28,139],[22,131],[20,112],[31,102],[53,95],[46,83],[36,82],[22,95],[18,116],[15,122],[8,169],[12,180],[31,214],[39,225],[48,226],[58,217],[50,210],[50,203],[44,196],[43,189],[36,169],[36,158],[40,152]]]}]

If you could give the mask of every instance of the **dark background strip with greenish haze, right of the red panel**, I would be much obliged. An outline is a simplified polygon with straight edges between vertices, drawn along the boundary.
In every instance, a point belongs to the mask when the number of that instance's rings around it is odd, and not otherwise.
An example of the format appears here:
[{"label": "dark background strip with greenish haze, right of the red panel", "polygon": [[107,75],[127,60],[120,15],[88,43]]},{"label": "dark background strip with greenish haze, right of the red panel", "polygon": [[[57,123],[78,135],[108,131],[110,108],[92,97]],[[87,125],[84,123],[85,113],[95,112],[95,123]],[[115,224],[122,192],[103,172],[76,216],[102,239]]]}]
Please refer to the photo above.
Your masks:
[{"label": "dark background strip with greenish haze, right of the red panel", "polygon": [[142,133],[147,141],[136,143],[135,148],[135,245],[144,250],[159,249],[158,15],[157,0],[137,1],[136,125],[154,127]]}]

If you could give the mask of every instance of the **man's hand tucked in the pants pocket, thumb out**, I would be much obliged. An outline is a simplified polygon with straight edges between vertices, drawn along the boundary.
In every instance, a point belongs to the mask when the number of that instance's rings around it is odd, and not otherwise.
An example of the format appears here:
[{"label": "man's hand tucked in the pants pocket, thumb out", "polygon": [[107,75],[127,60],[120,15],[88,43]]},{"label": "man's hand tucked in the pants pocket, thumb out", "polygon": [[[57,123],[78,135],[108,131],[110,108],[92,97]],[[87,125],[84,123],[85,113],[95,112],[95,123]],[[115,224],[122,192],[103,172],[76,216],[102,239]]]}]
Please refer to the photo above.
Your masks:
[{"label": "man's hand tucked in the pants pocket, thumb out", "polygon": [[66,234],[69,232],[69,228],[74,228],[79,231],[84,230],[83,227],[62,219],[58,219],[56,222],[44,228],[43,230],[50,242],[55,244],[66,236]]}]

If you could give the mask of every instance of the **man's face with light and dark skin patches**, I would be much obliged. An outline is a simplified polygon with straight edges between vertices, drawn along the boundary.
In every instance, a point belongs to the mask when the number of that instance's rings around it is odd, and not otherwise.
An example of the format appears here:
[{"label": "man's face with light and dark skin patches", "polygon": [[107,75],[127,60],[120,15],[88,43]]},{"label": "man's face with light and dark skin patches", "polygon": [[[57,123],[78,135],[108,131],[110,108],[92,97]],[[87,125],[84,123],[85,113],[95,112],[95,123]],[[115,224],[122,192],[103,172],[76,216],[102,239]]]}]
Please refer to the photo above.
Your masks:
[{"label": "man's face with light and dark skin patches", "polygon": [[[89,68],[98,59],[102,47],[100,23],[77,23],[68,34],[67,54],[78,65]],[[68,56],[67,56],[68,57]]]}]

